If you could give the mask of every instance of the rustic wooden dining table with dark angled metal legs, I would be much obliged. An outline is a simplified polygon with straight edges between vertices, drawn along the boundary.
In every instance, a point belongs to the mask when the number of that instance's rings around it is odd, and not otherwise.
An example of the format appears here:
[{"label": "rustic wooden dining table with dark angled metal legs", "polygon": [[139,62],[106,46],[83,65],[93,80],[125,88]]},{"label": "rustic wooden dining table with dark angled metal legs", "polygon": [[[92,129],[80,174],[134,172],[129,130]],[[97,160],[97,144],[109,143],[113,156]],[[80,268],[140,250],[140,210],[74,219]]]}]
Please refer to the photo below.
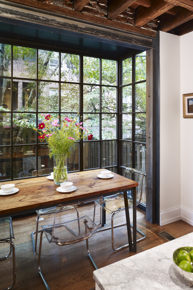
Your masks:
[{"label": "rustic wooden dining table with dark angled metal legs", "polygon": [[[68,173],[68,181],[73,182],[76,190],[70,193],[56,191],[59,185],[46,176],[27,178],[13,181],[2,181],[0,185],[14,183],[19,191],[14,195],[0,195],[0,217],[15,216],[33,212],[58,204],[70,204],[84,199],[99,196],[113,195],[118,192],[124,193],[125,214],[127,222],[127,234],[129,250],[137,250],[137,219],[136,219],[136,186],[138,183],[125,178],[117,173],[108,179],[99,178],[101,169],[87,170]],[[133,190],[133,243],[130,227],[127,190]]]}]

